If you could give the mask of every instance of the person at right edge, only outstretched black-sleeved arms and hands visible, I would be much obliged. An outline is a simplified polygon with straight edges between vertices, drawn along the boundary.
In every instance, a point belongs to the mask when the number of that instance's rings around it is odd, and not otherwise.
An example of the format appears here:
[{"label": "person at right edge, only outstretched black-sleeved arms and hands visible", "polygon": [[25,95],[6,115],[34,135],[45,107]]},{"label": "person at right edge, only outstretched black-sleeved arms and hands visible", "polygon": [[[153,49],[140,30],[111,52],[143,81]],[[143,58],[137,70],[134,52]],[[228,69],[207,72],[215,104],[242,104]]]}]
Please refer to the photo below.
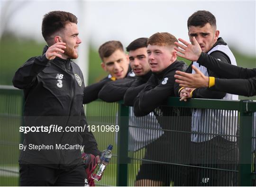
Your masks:
[{"label": "person at right edge, only outstretched black-sleeved arms and hands visible", "polygon": [[[180,86],[190,88],[209,87],[210,90],[231,94],[244,96],[256,95],[256,68],[241,68],[221,62],[218,59],[210,56],[208,57],[206,53],[202,52],[197,41],[195,41],[194,44],[190,44],[183,39],[179,40],[185,45],[177,43],[177,45],[184,50],[176,49],[182,53],[178,54],[179,56],[188,60],[197,61],[202,66],[212,71],[219,72],[224,76],[224,78],[205,76],[198,68],[192,65],[192,68],[195,70],[195,74],[185,73],[182,71],[176,72],[176,75],[174,76],[176,78],[175,82],[179,83]],[[254,113],[253,136],[252,150],[254,154],[256,154],[256,112]],[[254,172],[255,171],[256,156],[254,156]],[[256,183],[254,181],[253,186],[255,185]]]}]

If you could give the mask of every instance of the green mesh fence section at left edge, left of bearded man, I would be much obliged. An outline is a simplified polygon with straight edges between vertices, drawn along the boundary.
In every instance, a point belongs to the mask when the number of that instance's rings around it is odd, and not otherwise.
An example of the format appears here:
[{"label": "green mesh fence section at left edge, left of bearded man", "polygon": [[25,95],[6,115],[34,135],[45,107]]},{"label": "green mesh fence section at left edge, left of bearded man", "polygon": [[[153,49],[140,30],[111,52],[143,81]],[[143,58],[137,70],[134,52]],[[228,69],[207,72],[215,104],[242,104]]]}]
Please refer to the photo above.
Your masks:
[{"label": "green mesh fence section at left edge, left of bearded man", "polygon": [[18,186],[22,94],[0,94],[0,186]]}]

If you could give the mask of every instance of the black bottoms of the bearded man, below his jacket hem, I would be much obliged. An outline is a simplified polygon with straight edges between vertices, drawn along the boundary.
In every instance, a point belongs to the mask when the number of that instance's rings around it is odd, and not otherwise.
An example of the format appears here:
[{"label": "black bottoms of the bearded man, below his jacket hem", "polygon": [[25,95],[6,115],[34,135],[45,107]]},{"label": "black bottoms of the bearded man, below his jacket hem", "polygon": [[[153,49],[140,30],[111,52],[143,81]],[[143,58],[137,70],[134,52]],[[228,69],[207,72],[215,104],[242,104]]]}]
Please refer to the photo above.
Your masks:
[{"label": "black bottoms of the bearded man, below his jacket hem", "polygon": [[20,164],[20,186],[84,186],[84,165],[53,169],[35,164]]}]

